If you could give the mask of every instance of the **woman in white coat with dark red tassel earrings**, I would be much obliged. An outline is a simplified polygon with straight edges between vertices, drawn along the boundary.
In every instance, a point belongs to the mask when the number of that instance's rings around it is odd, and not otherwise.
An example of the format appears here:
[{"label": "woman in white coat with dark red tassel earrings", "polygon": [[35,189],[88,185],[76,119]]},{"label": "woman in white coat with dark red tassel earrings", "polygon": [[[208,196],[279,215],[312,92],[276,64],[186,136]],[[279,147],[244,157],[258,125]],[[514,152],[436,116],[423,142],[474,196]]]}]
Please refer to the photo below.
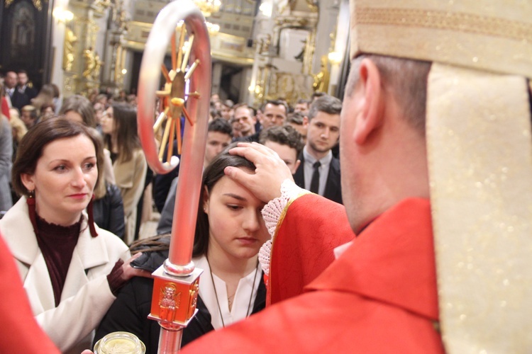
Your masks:
[{"label": "woman in white coat with dark red tassel earrings", "polygon": [[113,293],[133,275],[149,274],[131,268],[127,246],[92,220],[102,153],[87,127],[45,120],[18,149],[13,187],[23,197],[0,231],[35,319],[63,353],[79,354],[90,348]]}]

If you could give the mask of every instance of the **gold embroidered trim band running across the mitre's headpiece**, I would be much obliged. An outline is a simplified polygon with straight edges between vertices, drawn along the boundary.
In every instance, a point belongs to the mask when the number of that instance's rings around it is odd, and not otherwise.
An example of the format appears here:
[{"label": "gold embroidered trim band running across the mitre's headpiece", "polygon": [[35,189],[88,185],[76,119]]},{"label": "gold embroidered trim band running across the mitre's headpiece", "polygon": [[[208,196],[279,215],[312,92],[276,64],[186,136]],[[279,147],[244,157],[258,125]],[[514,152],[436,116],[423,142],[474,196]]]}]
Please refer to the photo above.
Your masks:
[{"label": "gold embroidered trim band running across the mitre's headpiece", "polygon": [[528,23],[472,13],[403,8],[357,8],[353,14],[355,21],[351,22],[352,28],[355,25],[397,25],[456,30],[514,40],[532,38],[532,25]]}]

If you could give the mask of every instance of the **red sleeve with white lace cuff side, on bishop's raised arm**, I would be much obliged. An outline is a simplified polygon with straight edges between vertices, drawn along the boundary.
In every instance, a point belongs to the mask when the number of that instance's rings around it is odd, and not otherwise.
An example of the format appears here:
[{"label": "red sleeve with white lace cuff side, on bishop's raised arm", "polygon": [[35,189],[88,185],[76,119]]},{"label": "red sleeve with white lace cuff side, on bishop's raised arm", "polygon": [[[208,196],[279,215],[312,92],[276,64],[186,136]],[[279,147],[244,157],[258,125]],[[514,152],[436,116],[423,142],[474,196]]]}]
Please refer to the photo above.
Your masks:
[{"label": "red sleeve with white lace cuff side, on bishop's raised arm", "polygon": [[301,294],[305,285],[333,263],[333,250],[355,238],[341,204],[306,194],[288,210],[272,246],[267,304]]}]

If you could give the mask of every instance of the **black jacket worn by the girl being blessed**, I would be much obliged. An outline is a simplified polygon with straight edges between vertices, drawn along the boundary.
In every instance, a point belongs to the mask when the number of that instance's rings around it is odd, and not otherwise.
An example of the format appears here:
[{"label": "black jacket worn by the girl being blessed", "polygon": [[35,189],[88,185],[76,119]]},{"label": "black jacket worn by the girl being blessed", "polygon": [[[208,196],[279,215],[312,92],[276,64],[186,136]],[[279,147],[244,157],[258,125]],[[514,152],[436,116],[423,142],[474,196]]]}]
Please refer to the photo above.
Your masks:
[{"label": "black jacket worn by the girl being blessed", "polygon": [[[166,238],[165,240],[169,239]],[[153,272],[159,268],[167,257],[168,250],[145,252],[131,263],[131,265],[135,268]],[[140,338],[140,341],[143,341],[147,354],[157,353],[160,326],[157,321],[152,321],[147,318],[148,314],[150,314],[152,292],[152,279],[135,277],[127,282],[118,292],[115,302],[113,302],[111,308],[96,329],[94,343],[108,333],[127,331],[135,334],[135,336]],[[252,314],[264,309],[265,305],[266,287],[264,282],[261,281],[257,290]],[[183,330],[182,346],[186,346],[187,343],[214,330],[211,325],[211,314],[209,314],[209,310],[207,310],[203,300],[199,296],[196,309],[198,309],[198,313],[190,321],[187,328]]]}]

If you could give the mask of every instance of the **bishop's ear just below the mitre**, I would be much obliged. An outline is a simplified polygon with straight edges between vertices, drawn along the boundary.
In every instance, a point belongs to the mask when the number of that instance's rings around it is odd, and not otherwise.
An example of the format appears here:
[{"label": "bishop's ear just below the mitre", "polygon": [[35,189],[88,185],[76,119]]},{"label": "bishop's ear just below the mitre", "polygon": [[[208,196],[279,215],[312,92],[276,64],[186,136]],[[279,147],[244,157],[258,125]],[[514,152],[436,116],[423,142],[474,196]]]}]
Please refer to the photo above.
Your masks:
[{"label": "bishop's ear just below the mitre", "polygon": [[369,58],[362,59],[359,67],[360,115],[355,126],[355,142],[363,144],[367,137],[382,124],[384,92],[379,69]]}]

